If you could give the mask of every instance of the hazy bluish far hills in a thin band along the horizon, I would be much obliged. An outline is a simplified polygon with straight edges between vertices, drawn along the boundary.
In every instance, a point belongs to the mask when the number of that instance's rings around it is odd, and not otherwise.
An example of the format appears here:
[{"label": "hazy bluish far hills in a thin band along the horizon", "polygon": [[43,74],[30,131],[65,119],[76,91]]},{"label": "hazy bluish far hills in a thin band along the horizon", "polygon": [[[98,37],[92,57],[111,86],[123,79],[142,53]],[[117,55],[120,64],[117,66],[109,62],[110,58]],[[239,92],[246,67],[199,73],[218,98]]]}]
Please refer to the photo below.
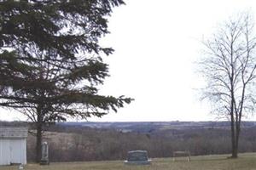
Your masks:
[{"label": "hazy bluish far hills in a thin band along the horizon", "polygon": [[[60,122],[58,125],[115,129],[124,133],[152,133],[167,129],[230,128],[230,122]],[[256,127],[256,122],[242,122],[242,127]]]}]

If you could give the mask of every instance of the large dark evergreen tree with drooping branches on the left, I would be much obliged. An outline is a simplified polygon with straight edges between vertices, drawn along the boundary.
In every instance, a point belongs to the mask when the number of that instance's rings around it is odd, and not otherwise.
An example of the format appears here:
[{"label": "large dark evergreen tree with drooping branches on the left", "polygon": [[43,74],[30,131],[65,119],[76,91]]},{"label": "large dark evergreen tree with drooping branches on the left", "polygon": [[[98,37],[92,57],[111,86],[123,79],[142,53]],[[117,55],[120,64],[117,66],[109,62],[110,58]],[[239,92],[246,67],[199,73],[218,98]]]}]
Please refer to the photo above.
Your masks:
[{"label": "large dark evergreen tree with drooping branches on the left", "polygon": [[131,98],[98,94],[108,77],[98,40],[122,0],[0,0],[0,105],[37,126],[37,160],[47,122],[117,111]]}]

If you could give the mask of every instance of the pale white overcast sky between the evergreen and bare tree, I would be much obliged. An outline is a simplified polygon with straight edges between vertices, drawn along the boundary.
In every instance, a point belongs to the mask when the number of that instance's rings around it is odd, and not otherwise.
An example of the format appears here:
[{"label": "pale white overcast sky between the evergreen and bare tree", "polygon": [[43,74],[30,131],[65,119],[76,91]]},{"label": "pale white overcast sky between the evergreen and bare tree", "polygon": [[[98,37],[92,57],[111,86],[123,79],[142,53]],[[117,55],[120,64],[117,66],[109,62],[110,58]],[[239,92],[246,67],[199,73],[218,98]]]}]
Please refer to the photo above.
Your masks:
[{"label": "pale white overcast sky between the evergreen and bare tree", "polygon": [[[233,14],[250,10],[253,0],[126,0],[109,18],[102,44],[113,47],[105,59],[111,77],[102,94],[134,98],[118,113],[89,121],[215,121],[210,107],[199,100],[204,83],[196,73],[201,39]],[[255,11],[255,12],[254,12]],[[255,17],[256,18],[256,17]],[[24,120],[3,111],[1,119]],[[256,120],[251,117],[251,120]]]}]

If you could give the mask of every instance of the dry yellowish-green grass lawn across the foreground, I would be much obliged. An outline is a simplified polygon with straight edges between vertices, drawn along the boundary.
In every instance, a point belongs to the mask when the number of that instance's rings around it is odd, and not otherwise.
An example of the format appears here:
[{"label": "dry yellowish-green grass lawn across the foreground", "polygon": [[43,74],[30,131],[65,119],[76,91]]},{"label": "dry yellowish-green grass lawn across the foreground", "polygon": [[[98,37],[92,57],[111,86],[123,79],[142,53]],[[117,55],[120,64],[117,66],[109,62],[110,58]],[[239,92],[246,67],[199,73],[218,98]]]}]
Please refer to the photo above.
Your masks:
[{"label": "dry yellowish-green grass lawn across the foreground", "polygon": [[[123,161],[58,162],[49,166],[27,164],[25,170],[256,170],[256,153],[240,154],[238,159],[221,156],[193,156],[191,161],[179,158],[155,158],[151,165],[124,165]],[[0,167],[0,170],[17,170],[17,166]]]}]

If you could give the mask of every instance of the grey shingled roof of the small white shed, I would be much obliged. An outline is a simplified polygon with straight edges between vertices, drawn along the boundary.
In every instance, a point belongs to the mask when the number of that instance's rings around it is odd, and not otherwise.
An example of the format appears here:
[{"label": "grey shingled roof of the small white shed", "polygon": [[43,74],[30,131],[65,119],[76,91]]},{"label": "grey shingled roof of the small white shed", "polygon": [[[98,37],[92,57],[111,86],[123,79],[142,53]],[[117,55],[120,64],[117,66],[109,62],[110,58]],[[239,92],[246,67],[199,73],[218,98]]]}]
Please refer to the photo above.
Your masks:
[{"label": "grey shingled roof of the small white shed", "polygon": [[0,127],[0,139],[26,138],[27,132],[27,127]]}]

